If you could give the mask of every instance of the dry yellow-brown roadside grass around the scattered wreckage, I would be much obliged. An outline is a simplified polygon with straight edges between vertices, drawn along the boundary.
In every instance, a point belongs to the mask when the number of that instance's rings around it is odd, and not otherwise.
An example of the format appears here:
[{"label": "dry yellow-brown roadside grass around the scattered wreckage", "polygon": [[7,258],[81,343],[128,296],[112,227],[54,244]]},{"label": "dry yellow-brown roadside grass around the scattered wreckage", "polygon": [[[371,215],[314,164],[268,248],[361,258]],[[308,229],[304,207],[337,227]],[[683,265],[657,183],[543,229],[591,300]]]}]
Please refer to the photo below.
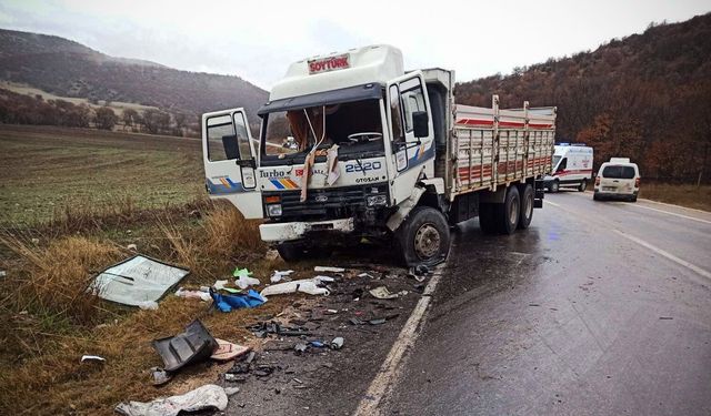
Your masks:
[{"label": "dry yellow-brown roadside grass around the scattered wreckage", "polygon": [[[207,203],[200,220],[170,213],[157,214],[144,235],[152,235],[150,255],[190,266],[182,286],[226,278],[237,265],[249,266],[266,282],[271,270],[283,267],[281,260],[263,258],[259,223],[246,221],[230,204]],[[214,336],[258,346],[261,341],[244,326],[299,297],[274,297],[231,314],[172,295],[158,311],[109,304],[86,291],[98,271],[128,255],[108,234],[42,236],[39,244],[7,231],[0,237],[13,254],[11,262],[0,264],[9,274],[0,282],[6,294],[0,300],[0,414],[109,415],[121,400],[147,400],[214,382],[227,367],[196,365],[163,388],[150,386],[148,368],[161,364],[151,341],[200,318]],[[83,354],[100,355],[107,363],[80,364]]]}]

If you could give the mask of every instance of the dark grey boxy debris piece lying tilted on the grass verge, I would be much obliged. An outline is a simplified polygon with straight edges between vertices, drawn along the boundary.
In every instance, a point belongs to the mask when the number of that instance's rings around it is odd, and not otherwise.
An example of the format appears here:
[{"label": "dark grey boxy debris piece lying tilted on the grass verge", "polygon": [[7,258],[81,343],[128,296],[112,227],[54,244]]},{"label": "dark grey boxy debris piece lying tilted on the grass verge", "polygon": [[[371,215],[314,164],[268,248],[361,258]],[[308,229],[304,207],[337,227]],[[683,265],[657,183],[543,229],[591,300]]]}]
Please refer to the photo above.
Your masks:
[{"label": "dark grey boxy debris piece lying tilted on the grass verge", "polygon": [[164,368],[168,372],[206,361],[217,347],[217,341],[200,319],[190,323],[183,333],[153,341],[153,348],[163,359]]}]

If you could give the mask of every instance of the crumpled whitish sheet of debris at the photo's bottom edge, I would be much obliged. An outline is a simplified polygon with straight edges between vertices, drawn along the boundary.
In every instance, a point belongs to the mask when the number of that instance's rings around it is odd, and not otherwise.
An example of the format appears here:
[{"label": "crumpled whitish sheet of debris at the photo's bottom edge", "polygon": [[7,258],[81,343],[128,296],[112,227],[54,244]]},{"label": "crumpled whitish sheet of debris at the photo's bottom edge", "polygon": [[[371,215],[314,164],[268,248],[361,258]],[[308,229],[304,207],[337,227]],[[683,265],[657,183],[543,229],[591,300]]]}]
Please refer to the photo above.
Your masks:
[{"label": "crumpled whitish sheet of debris at the photo's bottom edge", "polygon": [[222,388],[208,384],[183,395],[157,398],[152,402],[129,402],[116,406],[116,412],[124,416],[178,416],[181,412],[224,410],[228,396],[239,388]]}]

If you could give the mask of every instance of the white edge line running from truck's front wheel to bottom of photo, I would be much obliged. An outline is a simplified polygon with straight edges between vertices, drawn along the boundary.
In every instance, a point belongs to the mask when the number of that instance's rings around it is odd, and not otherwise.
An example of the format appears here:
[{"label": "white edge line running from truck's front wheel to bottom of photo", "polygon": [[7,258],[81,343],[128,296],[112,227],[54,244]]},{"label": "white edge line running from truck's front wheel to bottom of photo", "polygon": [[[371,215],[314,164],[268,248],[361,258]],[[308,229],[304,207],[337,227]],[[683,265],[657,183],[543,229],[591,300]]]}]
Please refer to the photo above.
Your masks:
[{"label": "white edge line running from truck's front wheel to bottom of photo", "polygon": [[400,375],[400,364],[402,364],[405,353],[410,347],[412,347],[412,345],[414,345],[414,342],[420,335],[418,329],[421,327],[421,324],[424,323],[427,308],[432,300],[432,293],[434,293],[434,290],[442,277],[444,265],[445,263],[435,267],[430,283],[424,287],[422,297],[418,301],[418,304],[414,306],[408,322],[400,331],[398,339],[395,339],[392,348],[390,348],[390,353],[388,353],[385,361],[382,363],[380,372],[370,383],[370,387],[368,387],[368,392],[365,392],[365,397],[360,400],[353,416],[371,416],[381,414],[378,407],[398,381],[398,376]]}]

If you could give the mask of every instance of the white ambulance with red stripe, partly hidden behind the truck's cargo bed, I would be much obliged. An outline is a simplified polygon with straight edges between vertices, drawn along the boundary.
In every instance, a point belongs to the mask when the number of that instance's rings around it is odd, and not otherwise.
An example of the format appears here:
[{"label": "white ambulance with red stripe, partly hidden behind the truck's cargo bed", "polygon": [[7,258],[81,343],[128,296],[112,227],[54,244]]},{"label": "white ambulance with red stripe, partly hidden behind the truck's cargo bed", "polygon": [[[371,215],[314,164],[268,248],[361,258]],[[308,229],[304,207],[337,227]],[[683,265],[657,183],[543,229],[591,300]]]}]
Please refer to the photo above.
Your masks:
[{"label": "white ambulance with red stripe, partly hidden behind the truck's cargo bed", "polygon": [[560,143],[553,153],[553,173],[545,176],[545,189],[574,186],[583,192],[592,177],[592,148],[584,144]]}]

